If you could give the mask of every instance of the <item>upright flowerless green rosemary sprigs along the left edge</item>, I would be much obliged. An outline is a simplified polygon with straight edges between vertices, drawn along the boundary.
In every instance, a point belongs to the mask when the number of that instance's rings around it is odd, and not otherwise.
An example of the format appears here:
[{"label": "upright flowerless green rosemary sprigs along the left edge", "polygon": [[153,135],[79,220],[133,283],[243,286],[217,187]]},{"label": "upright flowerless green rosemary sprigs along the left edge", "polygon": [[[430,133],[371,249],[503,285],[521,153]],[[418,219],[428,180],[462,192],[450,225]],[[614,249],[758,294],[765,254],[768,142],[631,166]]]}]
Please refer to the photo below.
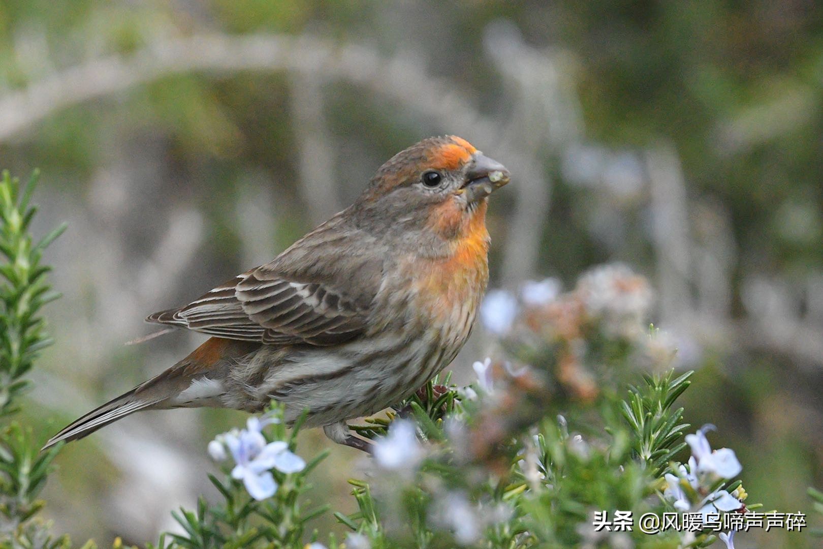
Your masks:
[{"label": "upright flowerless green rosemary sprigs along the left edge", "polygon": [[66,228],[58,226],[34,242],[31,204],[37,174],[26,184],[2,171],[0,177],[0,546],[59,547],[66,537],[52,539],[48,525],[35,515],[44,502],[37,495],[59,448],[40,453],[30,428],[11,417],[30,388],[27,377],[40,351],[52,340],[44,331],[40,308],[58,298],[50,291],[40,263],[43,251]]}]

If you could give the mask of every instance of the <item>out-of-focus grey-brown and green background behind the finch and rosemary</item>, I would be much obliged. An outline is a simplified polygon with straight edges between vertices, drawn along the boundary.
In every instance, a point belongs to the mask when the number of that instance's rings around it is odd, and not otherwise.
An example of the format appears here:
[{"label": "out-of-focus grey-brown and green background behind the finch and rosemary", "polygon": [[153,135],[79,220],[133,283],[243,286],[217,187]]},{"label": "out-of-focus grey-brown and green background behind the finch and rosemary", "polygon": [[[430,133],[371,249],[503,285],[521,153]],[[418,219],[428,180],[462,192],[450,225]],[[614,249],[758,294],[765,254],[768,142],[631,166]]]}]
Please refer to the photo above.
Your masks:
[{"label": "out-of-focus grey-brown and green background behind the finch and rosemary", "polygon": [[[47,309],[35,433],[205,339],[125,346],[153,331],[146,314],[267,262],[444,133],[514,174],[490,208],[491,285],[569,286],[615,261],[649,277],[649,320],[698,370],[686,420],[718,426],[765,509],[808,510],[823,486],[812,0],[0,0],[0,167],[40,168],[40,232],[69,225],[47,257],[64,297]],[[478,330],[458,379],[485,348]],[[207,440],[242,421],[146,412],[69,444],[47,513],[76,541],[154,539],[213,493]],[[301,439],[301,454],[331,449],[317,499],[351,511],[360,455]]]}]

